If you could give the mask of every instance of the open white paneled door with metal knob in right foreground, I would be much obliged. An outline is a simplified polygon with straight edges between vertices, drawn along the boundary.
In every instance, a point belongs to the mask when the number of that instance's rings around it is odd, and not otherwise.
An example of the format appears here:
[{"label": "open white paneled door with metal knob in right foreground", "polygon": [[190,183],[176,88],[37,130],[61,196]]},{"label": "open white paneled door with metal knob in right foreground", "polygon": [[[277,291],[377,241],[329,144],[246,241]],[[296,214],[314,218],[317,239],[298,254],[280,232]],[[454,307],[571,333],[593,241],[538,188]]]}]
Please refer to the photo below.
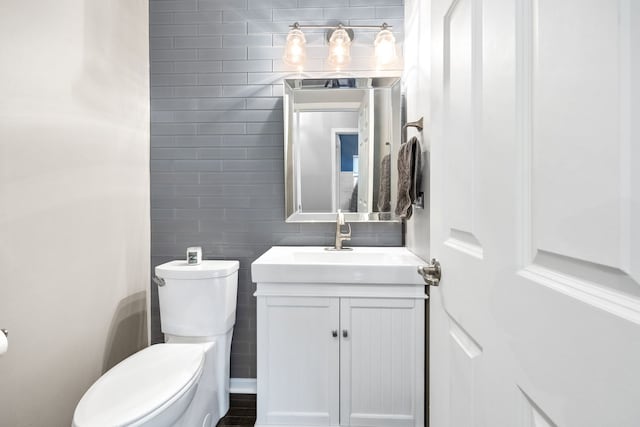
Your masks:
[{"label": "open white paneled door with metal knob in right foreground", "polygon": [[640,426],[640,2],[430,15],[431,427]]}]

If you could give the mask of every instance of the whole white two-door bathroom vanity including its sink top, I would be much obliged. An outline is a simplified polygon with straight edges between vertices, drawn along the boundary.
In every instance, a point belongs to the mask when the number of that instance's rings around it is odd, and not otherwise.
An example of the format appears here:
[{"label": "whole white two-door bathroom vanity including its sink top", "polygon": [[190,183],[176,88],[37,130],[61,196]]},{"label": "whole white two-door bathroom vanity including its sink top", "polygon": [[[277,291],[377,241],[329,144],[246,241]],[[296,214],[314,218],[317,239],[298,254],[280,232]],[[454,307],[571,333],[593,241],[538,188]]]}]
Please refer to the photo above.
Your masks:
[{"label": "whole white two-door bathroom vanity including its sink top", "polygon": [[423,261],[403,247],[274,246],[257,283],[257,427],[423,427]]}]

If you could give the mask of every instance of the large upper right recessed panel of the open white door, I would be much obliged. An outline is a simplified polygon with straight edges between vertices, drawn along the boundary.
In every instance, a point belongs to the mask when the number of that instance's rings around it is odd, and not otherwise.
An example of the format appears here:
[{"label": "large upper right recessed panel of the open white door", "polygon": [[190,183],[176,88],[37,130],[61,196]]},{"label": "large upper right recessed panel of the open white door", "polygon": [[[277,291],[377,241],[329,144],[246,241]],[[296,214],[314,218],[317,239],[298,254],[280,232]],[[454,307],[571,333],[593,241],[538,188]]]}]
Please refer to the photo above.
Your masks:
[{"label": "large upper right recessed panel of the open white door", "polygon": [[[620,293],[640,296],[629,75],[640,42],[631,40],[629,7],[525,2],[518,23],[524,273],[594,298],[613,291],[606,299],[614,305],[623,303]],[[578,19],[567,32],[560,23],[572,14]]]}]

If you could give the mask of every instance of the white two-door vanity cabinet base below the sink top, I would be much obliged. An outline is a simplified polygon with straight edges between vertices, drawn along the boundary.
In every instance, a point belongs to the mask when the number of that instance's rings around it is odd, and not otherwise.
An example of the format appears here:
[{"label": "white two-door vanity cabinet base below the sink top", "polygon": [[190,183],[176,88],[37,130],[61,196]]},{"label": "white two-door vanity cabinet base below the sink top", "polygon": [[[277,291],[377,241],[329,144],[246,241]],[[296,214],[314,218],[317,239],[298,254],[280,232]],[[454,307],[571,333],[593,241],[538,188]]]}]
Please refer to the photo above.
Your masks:
[{"label": "white two-door vanity cabinet base below the sink top", "polygon": [[384,288],[258,283],[256,426],[424,425],[424,295]]}]

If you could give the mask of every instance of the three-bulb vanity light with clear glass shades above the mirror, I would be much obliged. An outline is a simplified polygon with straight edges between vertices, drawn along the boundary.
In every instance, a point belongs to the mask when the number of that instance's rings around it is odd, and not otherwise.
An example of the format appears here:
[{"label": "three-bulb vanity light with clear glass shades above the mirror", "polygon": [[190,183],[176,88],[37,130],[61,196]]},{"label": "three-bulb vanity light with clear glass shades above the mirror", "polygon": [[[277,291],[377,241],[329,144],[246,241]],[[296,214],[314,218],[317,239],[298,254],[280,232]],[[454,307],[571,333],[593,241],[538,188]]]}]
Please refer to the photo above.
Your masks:
[{"label": "three-bulb vanity light with clear glass shades above the mirror", "polygon": [[376,63],[378,66],[387,65],[396,59],[396,38],[393,36],[391,29],[393,27],[383,23],[382,25],[343,25],[335,26],[327,25],[300,25],[294,23],[289,26],[289,34],[287,35],[287,44],[284,51],[283,60],[289,65],[302,68],[306,59],[306,39],[303,28],[320,29],[327,31],[327,41],[329,42],[329,56],[327,62],[340,69],[351,61],[351,42],[355,35],[353,30],[380,30],[376,36],[374,47]]}]

